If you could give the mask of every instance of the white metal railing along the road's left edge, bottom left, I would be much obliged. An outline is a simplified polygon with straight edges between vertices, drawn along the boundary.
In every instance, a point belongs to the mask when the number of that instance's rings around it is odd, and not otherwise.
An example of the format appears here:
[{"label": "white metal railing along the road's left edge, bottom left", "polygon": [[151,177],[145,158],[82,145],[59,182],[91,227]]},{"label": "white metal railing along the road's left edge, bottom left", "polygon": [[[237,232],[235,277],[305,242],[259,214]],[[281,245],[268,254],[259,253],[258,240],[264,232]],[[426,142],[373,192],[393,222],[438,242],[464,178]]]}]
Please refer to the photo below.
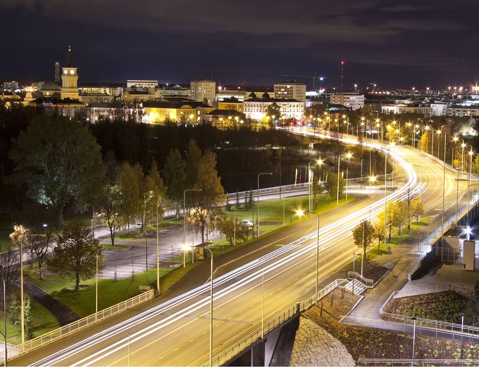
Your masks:
[{"label": "white metal railing along the road's left edge, bottom left", "polygon": [[[130,298],[126,301],[117,303],[111,307],[105,308],[102,311],[97,313],[93,313],[87,317],[84,317],[80,320],[74,321],[68,325],[59,327],[58,329],[52,330],[49,333],[44,335],[37,336],[31,340],[26,341],[23,344],[15,345],[7,350],[7,358],[14,358],[16,356],[20,356],[24,353],[30,352],[31,350],[38,348],[42,345],[51,343],[57,339],[64,337],[65,335],[74,333],[86,326],[94,324],[98,321],[101,321],[107,317],[113,316],[116,313],[120,313],[125,311],[126,309],[133,307],[139,303],[148,301],[153,298],[153,291],[146,291],[137,296]],[[0,359],[3,360],[4,358],[4,351],[0,351]]]}]

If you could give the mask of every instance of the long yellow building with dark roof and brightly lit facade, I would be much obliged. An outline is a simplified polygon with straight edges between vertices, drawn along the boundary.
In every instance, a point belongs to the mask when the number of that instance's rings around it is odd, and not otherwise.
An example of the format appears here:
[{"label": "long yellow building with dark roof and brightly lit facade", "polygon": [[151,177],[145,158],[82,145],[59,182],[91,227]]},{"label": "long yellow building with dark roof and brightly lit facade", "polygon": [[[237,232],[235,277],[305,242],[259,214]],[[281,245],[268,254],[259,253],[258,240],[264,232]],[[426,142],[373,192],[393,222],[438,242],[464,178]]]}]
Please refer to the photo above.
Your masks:
[{"label": "long yellow building with dark roof and brightly lit facade", "polygon": [[205,115],[213,111],[213,107],[197,101],[164,101],[143,102],[141,107],[148,116],[148,122],[161,123],[167,117],[179,123],[195,123],[204,121]]}]

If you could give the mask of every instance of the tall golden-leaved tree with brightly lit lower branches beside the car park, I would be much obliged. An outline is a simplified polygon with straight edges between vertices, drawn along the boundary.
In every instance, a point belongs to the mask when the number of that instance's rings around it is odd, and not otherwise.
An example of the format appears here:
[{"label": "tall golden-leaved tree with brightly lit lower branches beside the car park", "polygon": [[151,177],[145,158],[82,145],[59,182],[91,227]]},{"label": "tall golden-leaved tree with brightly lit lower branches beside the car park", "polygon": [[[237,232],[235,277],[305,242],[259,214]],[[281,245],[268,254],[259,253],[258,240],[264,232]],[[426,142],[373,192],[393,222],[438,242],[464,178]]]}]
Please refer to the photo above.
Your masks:
[{"label": "tall golden-leaved tree with brightly lit lower branches beside the car park", "polygon": [[200,157],[198,162],[198,174],[194,189],[194,206],[190,210],[189,222],[201,230],[201,240],[205,243],[205,230],[215,230],[215,220],[220,215],[219,207],[223,205],[224,194],[220,177],[216,170],[216,154],[210,150]]}]

